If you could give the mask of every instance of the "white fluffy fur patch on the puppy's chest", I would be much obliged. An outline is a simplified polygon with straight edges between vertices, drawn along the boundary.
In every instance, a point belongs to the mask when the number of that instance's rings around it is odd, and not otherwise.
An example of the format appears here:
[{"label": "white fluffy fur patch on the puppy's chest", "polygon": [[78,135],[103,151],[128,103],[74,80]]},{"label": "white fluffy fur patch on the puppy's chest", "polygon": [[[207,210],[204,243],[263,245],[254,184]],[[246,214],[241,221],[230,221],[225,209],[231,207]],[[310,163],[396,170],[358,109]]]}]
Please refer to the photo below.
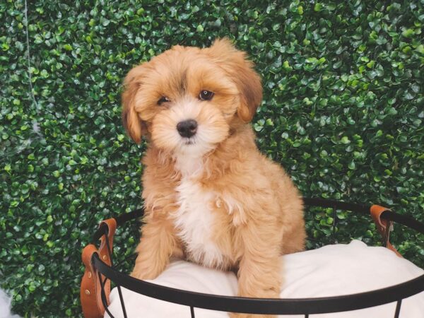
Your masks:
[{"label": "white fluffy fur patch on the puppy's chest", "polygon": [[[187,170],[184,170],[187,168]],[[177,233],[186,245],[187,257],[208,267],[220,267],[223,254],[216,245],[213,233],[216,215],[212,205],[216,194],[202,189],[193,176],[201,166],[185,163],[182,179],[175,189],[179,208],[174,215]]]}]

